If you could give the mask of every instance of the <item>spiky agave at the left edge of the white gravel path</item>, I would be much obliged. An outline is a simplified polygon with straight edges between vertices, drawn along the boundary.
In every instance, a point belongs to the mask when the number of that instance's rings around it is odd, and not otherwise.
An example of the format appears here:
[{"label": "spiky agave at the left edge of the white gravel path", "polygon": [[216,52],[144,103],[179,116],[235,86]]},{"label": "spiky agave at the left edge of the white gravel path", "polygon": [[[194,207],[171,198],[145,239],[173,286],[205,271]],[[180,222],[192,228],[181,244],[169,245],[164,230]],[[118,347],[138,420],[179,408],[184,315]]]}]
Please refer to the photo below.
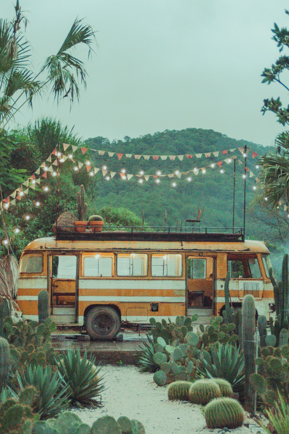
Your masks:
[{"label": "spiky agave at the left edge of the white gravel path", "polygon": [[88,359],[86,350],[82,358],[79,348],[77,351],[62,352],[58,369],[69,387],[70,399],[76,405],[99,404],[99,401],[93,398],[101,396],[104,382],[103,375],[98,376],[101,367],[95,366],[94,362],[95,357],[90,356]]}]

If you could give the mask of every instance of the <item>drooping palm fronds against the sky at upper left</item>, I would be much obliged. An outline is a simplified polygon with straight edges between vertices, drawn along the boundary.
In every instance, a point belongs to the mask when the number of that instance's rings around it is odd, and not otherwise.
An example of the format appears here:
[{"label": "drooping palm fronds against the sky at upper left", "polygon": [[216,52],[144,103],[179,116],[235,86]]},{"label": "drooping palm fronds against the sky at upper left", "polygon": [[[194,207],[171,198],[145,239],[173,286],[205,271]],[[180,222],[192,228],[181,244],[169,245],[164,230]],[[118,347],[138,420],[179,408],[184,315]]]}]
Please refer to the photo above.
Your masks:
[{"label": "drooping palm fronds against the sky at upper left", "polygon": [[24,106],[32,107],[33,98],[50,92],[59,101],[68,98],[70,104],[79,100],[79,85],[86,87],[84,63],[72,55],[80,44],[92,52],[95,33],[91,26],[76,19],[57,53],[44,60],[42,67],[32,68],[29,42],[20,30],[27,24],[19,0],[12,22],[0,19],[0,135],[10,120]]}]

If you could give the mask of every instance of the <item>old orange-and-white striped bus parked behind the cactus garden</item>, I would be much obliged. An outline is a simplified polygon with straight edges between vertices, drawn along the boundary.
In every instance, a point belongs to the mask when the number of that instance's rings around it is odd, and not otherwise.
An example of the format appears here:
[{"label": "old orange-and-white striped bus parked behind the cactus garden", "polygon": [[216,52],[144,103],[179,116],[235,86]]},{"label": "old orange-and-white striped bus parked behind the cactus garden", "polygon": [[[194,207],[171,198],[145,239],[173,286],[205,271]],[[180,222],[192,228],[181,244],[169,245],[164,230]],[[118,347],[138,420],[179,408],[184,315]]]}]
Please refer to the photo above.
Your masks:
[{"label": "old orange-and-white striped bus parked behind the cactus garden", "polygon": [[[139,231],[139,228],[138,228]],[[237,233],[111,231],[65,233],[32,241],[19,262],[17,302],[38,320],[37,296],[47,289],[56,324],[84,326],[91,339],[113,339],[121,322],[146,324],[198,314],[222,315],[230,271],[234,308],[252,294],[257,313],[274,310],[269,250]]]}]

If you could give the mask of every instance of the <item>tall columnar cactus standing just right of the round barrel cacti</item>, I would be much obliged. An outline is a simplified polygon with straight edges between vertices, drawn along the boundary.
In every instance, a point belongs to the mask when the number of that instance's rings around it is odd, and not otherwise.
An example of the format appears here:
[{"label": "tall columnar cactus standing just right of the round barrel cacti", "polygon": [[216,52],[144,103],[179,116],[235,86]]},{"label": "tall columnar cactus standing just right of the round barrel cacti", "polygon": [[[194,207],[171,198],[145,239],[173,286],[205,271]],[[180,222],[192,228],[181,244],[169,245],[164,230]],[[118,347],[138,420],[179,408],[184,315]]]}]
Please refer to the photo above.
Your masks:
[{"label": "tall columnar cactus standing just right of the round barrel cacti", "polygon": [[255,392],[249,381],[250,375],[255,372],[255,324],[256,324],[256,309],[254,297],[246,295],[242,305],[242,335],[243,335],[243,351],[244,351],[244,373],[245,373],[245,403],[246,410],[252,412],[254,406]]}]

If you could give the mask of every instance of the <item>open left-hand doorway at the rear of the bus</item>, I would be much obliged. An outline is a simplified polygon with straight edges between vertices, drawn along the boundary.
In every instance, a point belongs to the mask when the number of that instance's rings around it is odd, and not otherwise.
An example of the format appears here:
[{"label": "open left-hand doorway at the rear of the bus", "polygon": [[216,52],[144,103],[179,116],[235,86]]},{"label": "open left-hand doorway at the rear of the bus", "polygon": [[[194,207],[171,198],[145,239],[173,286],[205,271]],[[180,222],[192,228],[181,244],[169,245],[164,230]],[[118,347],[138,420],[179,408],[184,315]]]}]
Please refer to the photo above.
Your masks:
[{"label": "open left-hand doorway at the rear of the bus", "polygon": [[56,324],[78,323],[78,256],[53,255],[49,263],[51,318]]}]

